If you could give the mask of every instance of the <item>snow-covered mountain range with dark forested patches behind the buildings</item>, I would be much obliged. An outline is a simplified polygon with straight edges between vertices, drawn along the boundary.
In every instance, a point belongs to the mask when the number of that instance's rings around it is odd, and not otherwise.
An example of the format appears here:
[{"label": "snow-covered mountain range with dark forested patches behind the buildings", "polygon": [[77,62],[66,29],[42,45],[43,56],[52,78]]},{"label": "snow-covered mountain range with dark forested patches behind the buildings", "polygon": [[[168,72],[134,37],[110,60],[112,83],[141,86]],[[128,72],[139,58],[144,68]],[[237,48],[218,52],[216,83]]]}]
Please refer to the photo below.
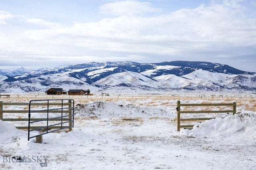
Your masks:
[{"label": "snow-covered mountain range with dark forested patches behind the buildings", "polygon": [[[25,70],[25,69],[24,69]],[[49,88],[143,90],[256,90],[256,73],[224,64],[102,62],[0,75],[0,92],[45,92]]]}]

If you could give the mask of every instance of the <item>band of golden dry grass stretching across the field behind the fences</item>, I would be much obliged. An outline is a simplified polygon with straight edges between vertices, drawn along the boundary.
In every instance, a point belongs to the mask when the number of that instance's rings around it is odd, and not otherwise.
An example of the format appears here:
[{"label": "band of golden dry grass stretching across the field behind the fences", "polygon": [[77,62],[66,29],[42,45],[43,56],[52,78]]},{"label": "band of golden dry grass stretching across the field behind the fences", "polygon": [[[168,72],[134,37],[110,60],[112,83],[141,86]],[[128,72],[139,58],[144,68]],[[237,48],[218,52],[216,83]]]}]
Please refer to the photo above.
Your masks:
[{"label": "band of golden dry grass stretching across the field behind the fences", "polygon": [[[23,96],[23,97],[22,97]],[[26,97],[25,97],[26,96]],[[220,96],[206,96],[205,98],[199,97],[197,95],[194,96],[170,96],[170,95],[162,95],[162,96],[155,96],[155,95],[147,95],[147,96],[88,96],[88,98],[81,97],[81,96],[70,96],[70,99],[75,100],[76,104],[87,104],[88,102],[94,102],[94,101],[106,101],[106,102],[116,102],[116,101],[124,101],[124,102],[131,102],[134,104],[138,104],[139,106],[165,106],[165,107],[175,107],[176,101],[180,100],[182,103],[192,103],[198,100],[198,103],[206,104],[206,103],[232,103],[236,102],[237,107],[243,106],[246,109],[254,110],[256,107],[255,100],[251,100],[250,98],[244,96],[244,97],[234,97],[227,95],[223,95],[223,99]],[[52,96],[36,96],[36,99],[52,99]],[[62,96],[54,96],[54,99],[58,98],[67,98],[66,95]],[[218,99],[221,98],[221,99]],[[1,98],[0,101],[2,102],[29,102],[30,100],[34,100],[35,95],[19,95],[19,98],[17,96],[12,96],[11,98]],[[8,109],[8,106],[4,106],[4,109]],[[28,106],[24,107],[23,109],[28,109]]]}]

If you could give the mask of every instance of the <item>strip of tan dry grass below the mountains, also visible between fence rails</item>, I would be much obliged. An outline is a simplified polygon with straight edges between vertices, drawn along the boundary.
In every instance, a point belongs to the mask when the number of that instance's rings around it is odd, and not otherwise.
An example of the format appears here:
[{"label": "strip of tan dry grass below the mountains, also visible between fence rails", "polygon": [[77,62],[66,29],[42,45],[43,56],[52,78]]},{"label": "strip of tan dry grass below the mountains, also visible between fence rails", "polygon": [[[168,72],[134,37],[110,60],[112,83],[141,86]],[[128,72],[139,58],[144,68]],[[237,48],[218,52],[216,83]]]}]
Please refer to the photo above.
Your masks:
[{"label": "strip of tan dry grass below the mountains, also visible between fence rails", "polygon": [[[182,96],[183,95],[183,96]],[[243,94],[208,94],[205,96],[201,96],[198,94],[190,93],[188,96],[182,95],[120,95],[113,94],[112,96],[67,96],[67,95],[34,95],[34,94],[14,94],[11,95],[10,98],[1,98],[2,102],[26,102],[28,103],[30,100],[40,100],[40,99],[74,99],[75,106],[77,104],[88,104],[89,102],[95,101],[106,101],[106,102],[130,102],[131,104],[136,104],[138,106],[163,106],[163,107],[176,107],[177,100],[180,100],[181,103],[233,103],[236,102],[238,110],[252,110],[255,111],[256,108],[256,96],[242,96]],[[222,95],[222,96],[221,96]],[[13,106],[4,106],[4,109],[7,110],[9,107],[14,108]],[[24,110],[28,110],[28,106],[22,106]],[[38,106],[32,106],[36,108]],[[18,109],[18,108],[17,108]],[[194,107],[190,107],[188,109],[194,109]],[[214,108],[210,108],[214,109]],[[221,107],[217,107],[217,109],[222,109]],[[90,118],[92,119],[92,118]]]}]

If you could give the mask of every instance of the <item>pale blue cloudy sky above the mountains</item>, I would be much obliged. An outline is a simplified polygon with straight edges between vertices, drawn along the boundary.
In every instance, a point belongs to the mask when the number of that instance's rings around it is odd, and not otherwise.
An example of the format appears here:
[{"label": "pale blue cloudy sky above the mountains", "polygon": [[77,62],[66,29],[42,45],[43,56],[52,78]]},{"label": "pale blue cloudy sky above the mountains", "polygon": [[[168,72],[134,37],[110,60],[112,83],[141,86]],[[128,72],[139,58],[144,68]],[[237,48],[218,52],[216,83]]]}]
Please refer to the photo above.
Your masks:
[{"label": "pale blue cloudy sky above the mountains", "polygon": [[0,69],[206,61],[256,72],[255,0],[0,0]]}]

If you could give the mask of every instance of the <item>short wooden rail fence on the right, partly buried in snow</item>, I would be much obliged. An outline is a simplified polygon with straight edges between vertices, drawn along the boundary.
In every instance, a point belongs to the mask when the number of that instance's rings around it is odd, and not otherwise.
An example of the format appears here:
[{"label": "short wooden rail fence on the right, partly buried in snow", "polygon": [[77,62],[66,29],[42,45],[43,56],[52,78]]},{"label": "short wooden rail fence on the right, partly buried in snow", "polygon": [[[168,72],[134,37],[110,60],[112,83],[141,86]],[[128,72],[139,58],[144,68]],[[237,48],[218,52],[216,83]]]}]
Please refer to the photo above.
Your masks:
[{"label": "short wooden rail fence on the right, partly buried in snow", "polygon": [[[181,110],[180,107],[185,106],[185,107],[209,107],[209,106],[228,106],[232,107],[230,110],[204,110],[200,109],[200,111],[194,111],[194,110]],[[180,114],[183,113],[233,113],[236,114],[236,103],[231,103],[231,104],[223,104],[223,103],[214,103],[214,104],[181,104],[180,101],[177,102],[177,131],[180,131],[180,128],[192,128],[194,125],[180,125],[181,121],[200,121],[200,120],[210,120],[214,119],[215,117],[197,117],[197,118],[180,118]]]}]

